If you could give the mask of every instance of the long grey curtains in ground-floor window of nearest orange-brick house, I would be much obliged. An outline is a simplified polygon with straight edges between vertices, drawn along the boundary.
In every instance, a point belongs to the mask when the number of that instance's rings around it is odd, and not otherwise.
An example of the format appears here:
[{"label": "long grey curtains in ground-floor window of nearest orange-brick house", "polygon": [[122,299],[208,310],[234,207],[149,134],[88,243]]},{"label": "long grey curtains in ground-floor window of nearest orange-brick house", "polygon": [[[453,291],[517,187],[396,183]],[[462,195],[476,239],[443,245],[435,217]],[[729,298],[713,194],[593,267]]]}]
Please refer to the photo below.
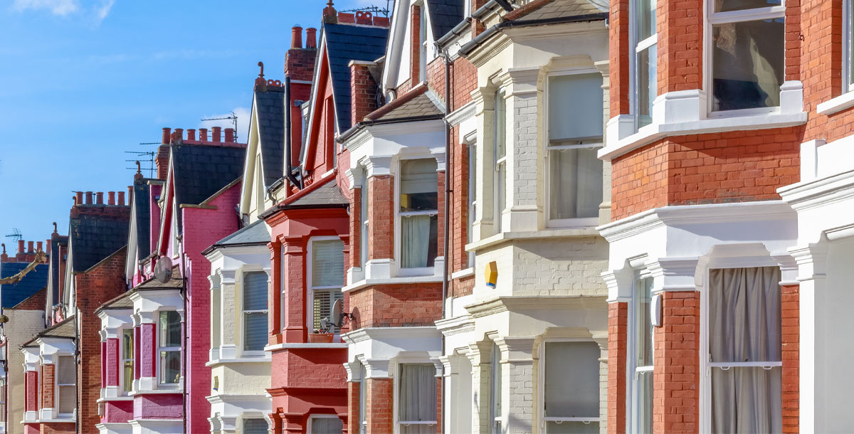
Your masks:
[{"label": "long grey curtains in ground-floor window of nearest orange-brick house", "polygon": [[[709,271],[712,362],[781,361],[780,269]],[[781,368],[711,369],[712,432],[780,432]]]}]

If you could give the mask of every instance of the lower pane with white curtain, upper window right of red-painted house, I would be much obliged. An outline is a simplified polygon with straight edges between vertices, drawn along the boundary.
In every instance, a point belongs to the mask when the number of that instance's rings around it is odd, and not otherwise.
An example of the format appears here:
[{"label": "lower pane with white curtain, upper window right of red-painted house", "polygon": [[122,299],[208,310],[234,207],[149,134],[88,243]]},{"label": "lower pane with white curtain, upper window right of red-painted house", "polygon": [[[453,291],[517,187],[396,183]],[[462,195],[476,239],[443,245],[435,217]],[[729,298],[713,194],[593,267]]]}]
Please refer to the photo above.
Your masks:
[{"label": "lower pane with white curtain, upper window right of red-painted house", "polygon": [[433,267],[438,247],[439,216],[401,217],[401,267]]}]

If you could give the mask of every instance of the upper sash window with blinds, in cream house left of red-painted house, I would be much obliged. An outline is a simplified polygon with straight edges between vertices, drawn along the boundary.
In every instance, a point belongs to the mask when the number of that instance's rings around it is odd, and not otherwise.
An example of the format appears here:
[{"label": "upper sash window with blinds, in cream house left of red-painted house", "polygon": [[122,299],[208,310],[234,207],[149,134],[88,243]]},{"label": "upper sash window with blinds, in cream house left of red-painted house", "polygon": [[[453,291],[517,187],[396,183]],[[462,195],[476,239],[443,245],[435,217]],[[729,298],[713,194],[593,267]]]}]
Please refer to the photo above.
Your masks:
[{"label": "upper sash window with blinds, in cream house left of red-painted house", "polygon": [[267,343],[267,274],[243,274],[243,350],[263,351]]}]

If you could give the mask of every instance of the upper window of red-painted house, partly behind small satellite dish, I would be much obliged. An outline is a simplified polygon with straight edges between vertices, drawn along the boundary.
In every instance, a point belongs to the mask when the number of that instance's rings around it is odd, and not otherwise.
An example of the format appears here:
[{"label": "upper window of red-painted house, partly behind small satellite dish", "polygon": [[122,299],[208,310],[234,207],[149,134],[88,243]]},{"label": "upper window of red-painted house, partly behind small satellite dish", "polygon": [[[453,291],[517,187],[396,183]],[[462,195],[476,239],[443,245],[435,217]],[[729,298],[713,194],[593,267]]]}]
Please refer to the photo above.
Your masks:
[{"label": "upper window of red-painted house, partly behind small satellite dish", "polygon": [[[343,300],[341,288],[344,285],[344,243],[340,239],[322,239],[312,241],[312,315],[310,325],[313,330],[325,330],[324,319],[331,318],[332,304]],[[328,325],[332,327],[332,325]],[[333,331],[333,330],[329,330]],[[338,331],[337,328],[334,329]]]}]

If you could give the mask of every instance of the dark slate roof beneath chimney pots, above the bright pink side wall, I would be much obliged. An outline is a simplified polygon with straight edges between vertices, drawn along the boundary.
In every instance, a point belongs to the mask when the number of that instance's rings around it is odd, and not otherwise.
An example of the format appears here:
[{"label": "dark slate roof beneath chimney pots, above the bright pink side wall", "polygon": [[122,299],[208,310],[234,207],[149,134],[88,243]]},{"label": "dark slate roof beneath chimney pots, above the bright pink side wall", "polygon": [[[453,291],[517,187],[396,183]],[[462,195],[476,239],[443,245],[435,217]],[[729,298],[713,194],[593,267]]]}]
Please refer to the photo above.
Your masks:
[{"label": "dark slate roof beneath chimney pots, above the bright pink side wall", "polygon": [[175,201],[199,205],[243,175],[246,149],[208,144],[173,144]]}]

